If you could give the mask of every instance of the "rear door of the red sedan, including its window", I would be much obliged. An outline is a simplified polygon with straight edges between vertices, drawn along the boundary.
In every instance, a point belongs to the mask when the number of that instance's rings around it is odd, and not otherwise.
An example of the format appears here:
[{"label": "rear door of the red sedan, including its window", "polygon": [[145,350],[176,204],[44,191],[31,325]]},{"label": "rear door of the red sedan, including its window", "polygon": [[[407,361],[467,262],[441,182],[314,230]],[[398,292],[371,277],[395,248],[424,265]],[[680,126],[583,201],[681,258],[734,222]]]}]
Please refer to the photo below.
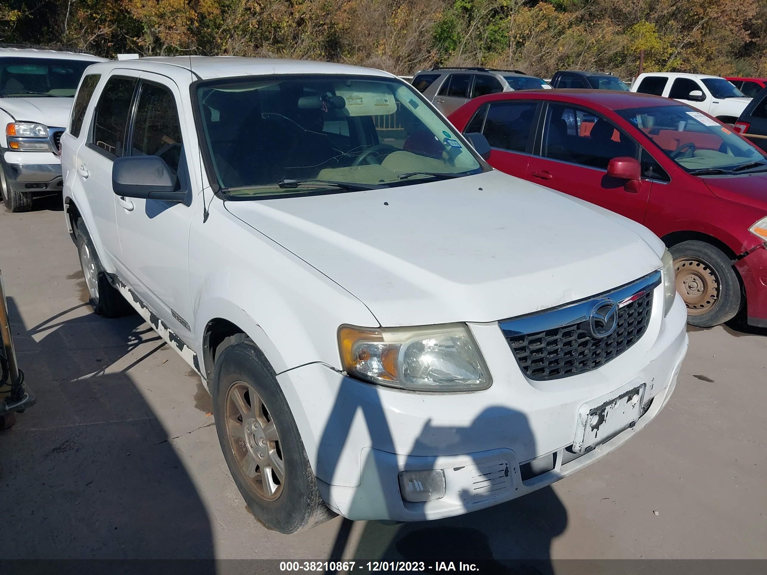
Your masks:
[{"label": "rear door of the red sedan, including its window", "polygon": [[524,178],[533,149],[539,107],[536,101],[489,102],[476,111],[463,133],[484,134],[492,149],[490,165]]}]

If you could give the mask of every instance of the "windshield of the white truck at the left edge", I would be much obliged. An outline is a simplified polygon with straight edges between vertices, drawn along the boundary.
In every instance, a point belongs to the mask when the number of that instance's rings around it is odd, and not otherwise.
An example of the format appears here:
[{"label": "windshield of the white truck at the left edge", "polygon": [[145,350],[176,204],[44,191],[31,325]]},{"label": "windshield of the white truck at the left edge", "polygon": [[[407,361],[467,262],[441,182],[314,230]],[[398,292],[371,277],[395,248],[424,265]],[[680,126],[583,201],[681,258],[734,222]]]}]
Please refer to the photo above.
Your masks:
[{"label": "windshield of the white truck at the left edge", "polygon": [[0,97],[74,97],[87,60],[0,58]]}]

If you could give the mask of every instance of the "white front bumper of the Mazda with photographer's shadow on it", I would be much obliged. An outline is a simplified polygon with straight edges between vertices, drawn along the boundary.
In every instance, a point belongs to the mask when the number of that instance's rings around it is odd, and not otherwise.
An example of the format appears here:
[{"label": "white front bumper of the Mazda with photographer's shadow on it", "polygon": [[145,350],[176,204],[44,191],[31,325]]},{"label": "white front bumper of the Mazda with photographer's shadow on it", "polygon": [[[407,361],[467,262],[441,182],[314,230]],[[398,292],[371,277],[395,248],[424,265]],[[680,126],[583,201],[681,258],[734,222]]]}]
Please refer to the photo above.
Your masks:
[{"label": "white front bumper of the Mazda with photographer's shadow on it", "polygon": [[[656,289],[647,332],[630,350],[561,380],[525,378],[498,324],[470,324],[494,378],[481,392],[407,393],[321,363],[281,373],[324,500],[353,520],[449,517],[550,485],[616,449],[667,403],[686,353],[686,308],[676,297],[662,320],[663,286]],[[647,384],[644,405],[652,399],[637,426],[585,455],[568,452],[580,406],[637,383]],[[554,467],[531,476],[525,464],[551,454]],[[400,471],[426,469],[444,470],[445,496],[403,501]]]}]

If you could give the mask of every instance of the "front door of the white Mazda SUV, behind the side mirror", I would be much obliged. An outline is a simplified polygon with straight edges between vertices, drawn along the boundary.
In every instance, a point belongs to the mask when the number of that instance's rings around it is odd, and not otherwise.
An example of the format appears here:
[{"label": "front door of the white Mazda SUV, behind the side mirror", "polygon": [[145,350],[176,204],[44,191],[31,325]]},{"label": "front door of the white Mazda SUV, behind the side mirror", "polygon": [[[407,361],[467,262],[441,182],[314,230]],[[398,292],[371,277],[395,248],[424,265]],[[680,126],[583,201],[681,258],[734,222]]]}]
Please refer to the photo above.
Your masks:
[{"label": "front door of the white Mazda SUV, behind the side mirror", "polygon": [[[195,212],[184,144],[193,125],[179,111],[179,90],[169,78],[142,73],[129,132],[127,155],[160,156],[175,173],[185,203],[114,195],[122,261],[128,281],[187,344],[192,343],[189,292],[189,227]],[[186,120],[186,121],[185,121]]]}]

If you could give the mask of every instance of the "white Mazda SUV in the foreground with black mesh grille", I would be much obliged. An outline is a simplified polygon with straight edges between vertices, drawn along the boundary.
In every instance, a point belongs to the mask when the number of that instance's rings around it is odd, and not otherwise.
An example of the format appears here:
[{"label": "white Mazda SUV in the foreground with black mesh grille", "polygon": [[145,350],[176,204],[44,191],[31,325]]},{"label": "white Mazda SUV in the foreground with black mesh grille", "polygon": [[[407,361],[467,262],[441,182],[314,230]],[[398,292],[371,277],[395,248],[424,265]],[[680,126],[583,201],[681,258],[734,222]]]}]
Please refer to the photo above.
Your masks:
[{"label": "white Mazda SUV in the foreground with black mesh grille", "polygon": [[686,353],[663,243],[492,169],[410,84],[311,61],[94,64],[62,139],[91,304],[199,373],[252,511],[509,501],[657,416]]}]

